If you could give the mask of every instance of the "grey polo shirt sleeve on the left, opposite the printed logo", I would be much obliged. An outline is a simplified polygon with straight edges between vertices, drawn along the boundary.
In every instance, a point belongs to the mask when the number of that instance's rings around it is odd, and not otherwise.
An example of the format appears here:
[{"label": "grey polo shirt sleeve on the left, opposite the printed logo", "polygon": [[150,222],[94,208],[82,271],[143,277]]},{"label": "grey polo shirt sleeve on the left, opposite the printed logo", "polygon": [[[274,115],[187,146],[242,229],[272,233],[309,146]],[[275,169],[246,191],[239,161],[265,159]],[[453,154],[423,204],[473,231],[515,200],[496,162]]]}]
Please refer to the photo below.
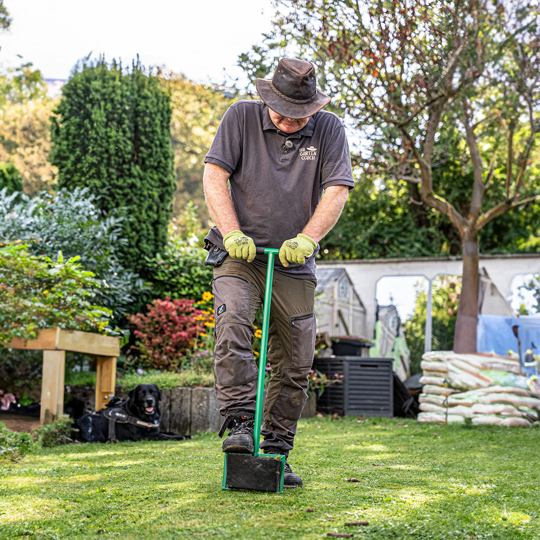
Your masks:
[{"label": "grey polo shirt sleeve on the left, opposite the printed logo", "polygon": [[204,161],[218,165],[232,174],[241,159],[242,135],[238,112],[234,106],[230,106],[219,123]]}]

